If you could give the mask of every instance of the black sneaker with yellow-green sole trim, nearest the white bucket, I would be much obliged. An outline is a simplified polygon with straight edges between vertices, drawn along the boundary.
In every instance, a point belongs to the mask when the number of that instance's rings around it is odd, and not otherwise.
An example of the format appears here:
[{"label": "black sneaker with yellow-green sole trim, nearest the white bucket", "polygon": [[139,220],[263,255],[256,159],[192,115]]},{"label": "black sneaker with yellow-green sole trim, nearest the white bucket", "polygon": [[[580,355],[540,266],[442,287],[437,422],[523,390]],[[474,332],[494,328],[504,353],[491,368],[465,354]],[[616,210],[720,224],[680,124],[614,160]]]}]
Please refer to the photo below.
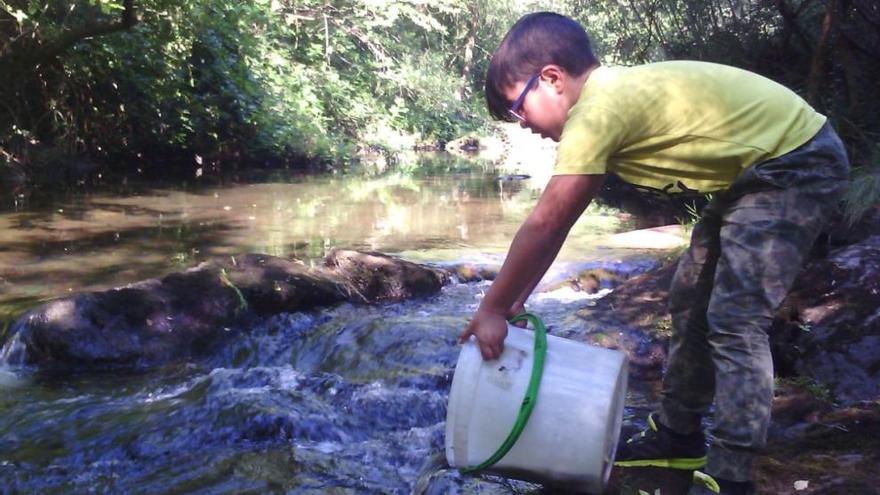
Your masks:
[{"label": "black sneaker with yellow-green sole trim, nearest the white bucket", "polygon": [[682,435],[648,415],[648,428],[617,448],[619,467],[664,467],[699,469],[706,465],[706,437],[703,432]]}]

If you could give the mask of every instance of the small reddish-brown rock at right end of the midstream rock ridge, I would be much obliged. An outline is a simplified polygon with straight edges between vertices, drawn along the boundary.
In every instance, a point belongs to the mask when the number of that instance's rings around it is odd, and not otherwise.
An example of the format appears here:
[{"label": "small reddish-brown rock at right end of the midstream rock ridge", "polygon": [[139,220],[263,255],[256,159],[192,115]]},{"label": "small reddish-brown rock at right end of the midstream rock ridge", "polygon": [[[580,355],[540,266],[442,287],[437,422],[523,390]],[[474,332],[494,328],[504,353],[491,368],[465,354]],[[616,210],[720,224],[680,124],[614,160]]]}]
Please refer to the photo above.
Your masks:
[{"label": "small reddish-brown rock at right end of the midstream rock ridge", "polygon": [[382,253],[333,250],[324,259],[327,273],[340,280],[352,300],[362,302],[401,301],[436,294],[448,275]]}]

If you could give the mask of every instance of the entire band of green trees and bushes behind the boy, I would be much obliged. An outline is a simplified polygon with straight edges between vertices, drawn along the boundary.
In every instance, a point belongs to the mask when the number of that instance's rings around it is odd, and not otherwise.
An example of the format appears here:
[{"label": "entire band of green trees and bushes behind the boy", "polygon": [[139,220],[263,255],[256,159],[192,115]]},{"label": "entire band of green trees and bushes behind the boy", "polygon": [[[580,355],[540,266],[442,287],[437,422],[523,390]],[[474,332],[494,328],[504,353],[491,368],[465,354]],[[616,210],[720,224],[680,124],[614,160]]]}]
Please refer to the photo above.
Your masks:
[{"label": "entire band of green trees and bushes behind the boy", "polygon": [[487,59],[534,10],[582,21],[605,63],[710,60],[788,85],[880,187],[876,0],[0,0],[0,167],[342,167],[485,132]]}]

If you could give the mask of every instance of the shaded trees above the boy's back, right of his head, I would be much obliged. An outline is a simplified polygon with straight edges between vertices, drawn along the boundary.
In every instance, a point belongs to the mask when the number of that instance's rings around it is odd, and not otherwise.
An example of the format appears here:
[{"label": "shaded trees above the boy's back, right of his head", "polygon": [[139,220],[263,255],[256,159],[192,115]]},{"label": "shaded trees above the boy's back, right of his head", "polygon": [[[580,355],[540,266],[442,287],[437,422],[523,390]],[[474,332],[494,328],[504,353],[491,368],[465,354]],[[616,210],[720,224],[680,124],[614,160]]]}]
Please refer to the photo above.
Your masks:
[{"label": "shaded trees above the boy's back, right of his head", "polygon": [[836,124],[853,163],[880,167],[880,11],[869,0],[572,0],[606,63],[695,59],[801,93]]}]

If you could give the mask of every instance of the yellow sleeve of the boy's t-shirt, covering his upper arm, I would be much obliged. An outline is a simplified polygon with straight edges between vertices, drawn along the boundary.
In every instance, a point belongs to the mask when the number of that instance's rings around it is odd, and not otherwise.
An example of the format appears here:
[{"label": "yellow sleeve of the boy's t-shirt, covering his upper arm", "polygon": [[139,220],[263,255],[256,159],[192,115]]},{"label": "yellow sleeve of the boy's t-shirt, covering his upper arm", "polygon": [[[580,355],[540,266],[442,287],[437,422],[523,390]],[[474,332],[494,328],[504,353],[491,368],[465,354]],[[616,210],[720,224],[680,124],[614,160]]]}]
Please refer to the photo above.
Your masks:
[{"label": "yellow sleeve of the boy's t-shirt, covering his upper arm", "polygon": [[604,174],[625,133],[623,120],[611,110],[575,105],[562,130],[553,175]]}]

